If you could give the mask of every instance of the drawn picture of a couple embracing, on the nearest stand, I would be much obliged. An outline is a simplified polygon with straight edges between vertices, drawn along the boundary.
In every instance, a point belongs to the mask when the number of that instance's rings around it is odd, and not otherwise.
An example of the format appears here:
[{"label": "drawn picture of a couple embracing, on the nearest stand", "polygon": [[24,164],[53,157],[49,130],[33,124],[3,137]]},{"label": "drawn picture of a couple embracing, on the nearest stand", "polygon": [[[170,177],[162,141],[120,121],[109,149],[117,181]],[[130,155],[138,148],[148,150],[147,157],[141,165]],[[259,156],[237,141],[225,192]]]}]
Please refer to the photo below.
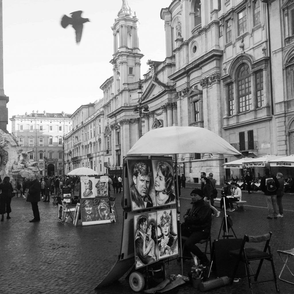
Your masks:
[{"label": "drawn picture of a couple embracing, on the nearest stand", "polygon": [[135,266],[140,268],[158,260],[156,212],[134,216]]}]

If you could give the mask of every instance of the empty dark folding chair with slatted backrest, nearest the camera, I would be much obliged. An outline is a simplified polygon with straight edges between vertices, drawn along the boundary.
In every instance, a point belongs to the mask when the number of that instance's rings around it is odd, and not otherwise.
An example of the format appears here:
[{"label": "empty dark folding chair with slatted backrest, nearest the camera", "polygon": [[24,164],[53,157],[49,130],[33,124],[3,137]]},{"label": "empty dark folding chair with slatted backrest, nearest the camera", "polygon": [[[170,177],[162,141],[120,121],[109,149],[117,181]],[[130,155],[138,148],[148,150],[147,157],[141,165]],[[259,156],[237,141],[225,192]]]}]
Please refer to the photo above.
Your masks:
[{"label": "empty dark folding chair with slatted backrest, nearest the camera", "polygon": [[[268,234],[260,235],[260,236],[248,236],[248,235],[245,235],[244,238],[243,238],[243,242],[242,242],[240,250],[232,250],[232,251],[230,251],[230,255],[232,255],[232,256],[234,256],[235,258],[238,259],[238,262],[236,263],[236,266],[234,268],[231,284],[233,283],[233,280],[235,278],[239,262],[244,262],[245,265],[246,265],[246,272],[247,272],[248,283],[249,283],[249,288],[250,288],[250,293],[251,294],[253,294],[252,284],[264,283],[264,282],[269,282],[269,281],[275,281],[276,290],[279,292],[278,279],[277,279],[277,275],[275,273],[275,265],[274,265],[274,262],[273,262],[273,253],[272,253],[272,251],[270,249],[270,238],[271,238],[271,236],[272,236],[272,232],[269,232]],[[261,242],[266,242],[263,251],[255,249],[255,248],[245,248],[246,243],[261,243]],[[253,270],[252,270],[252,268],[250,266],[250,262],[253,261],[253,260],[260,260],[257,271],[256,271],[255,274],[253,273]],[[263,264],[263,260],[270,261],[271,266],[272,266],[272,270],[273,270],[273,277],[274,278],[270,279],[270,280],[263,280],[263,281],[258,281],[257,282],[257,278],[258,278],[258,275],[260,273],[260,269],[261,269],[261,266]],[[250,274],[249,268],[250,268],[252,274]],[[250,277],[252,277],[252,276],[254,277],[255,282],[251,282]]]}]

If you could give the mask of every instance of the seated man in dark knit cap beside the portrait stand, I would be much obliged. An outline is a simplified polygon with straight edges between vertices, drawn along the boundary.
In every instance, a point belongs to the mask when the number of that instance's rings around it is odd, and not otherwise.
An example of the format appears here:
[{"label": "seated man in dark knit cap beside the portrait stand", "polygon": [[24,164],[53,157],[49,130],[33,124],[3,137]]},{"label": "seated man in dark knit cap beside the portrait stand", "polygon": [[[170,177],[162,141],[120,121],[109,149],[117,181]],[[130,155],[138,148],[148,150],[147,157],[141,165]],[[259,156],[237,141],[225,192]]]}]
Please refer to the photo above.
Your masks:
[{"label": "seated man in dark knit cap beside the portrait stand", "polygon": [[[200,264],[208,266],[210,261],[195,244],[200,240],[207,239],[211,229],[210,207],[203,200],[203,193],[200,189],[191,192],[193,204],[184,215],[184,223],[181,224],[182,236],[188,237],[185,242],[183,256],[191,256],[191,253],[200,259]],[[190,253],[191,252],[191,253]]]}]

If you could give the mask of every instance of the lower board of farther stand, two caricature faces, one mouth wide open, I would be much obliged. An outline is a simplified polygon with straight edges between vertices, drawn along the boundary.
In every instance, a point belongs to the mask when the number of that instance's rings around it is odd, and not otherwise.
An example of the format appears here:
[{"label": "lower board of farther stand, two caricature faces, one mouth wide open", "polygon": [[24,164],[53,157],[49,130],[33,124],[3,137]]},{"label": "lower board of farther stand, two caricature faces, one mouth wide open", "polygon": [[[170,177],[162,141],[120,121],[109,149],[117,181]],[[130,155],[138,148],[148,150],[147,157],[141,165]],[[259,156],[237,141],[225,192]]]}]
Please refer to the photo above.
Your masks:
[{"label": "lower board of farther stand, two caricature faces, one mouth wide open", "polygon": [[82,225],[110,223],[111,213],[108,198],[81,199]]}]

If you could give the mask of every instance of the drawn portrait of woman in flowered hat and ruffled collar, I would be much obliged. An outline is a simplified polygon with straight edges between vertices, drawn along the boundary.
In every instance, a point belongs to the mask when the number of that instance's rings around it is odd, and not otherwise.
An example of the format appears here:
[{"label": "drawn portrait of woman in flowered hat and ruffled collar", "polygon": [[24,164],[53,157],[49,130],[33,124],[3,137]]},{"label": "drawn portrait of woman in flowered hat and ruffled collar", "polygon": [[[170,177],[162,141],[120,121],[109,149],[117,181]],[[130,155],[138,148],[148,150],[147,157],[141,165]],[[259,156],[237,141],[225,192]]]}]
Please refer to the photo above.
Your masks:
[{"label": "drawn portrait of woman in flowered hat and ruffled collar", "polygon": [[176,209],[157,211],[158,258],[178,254]]}]

